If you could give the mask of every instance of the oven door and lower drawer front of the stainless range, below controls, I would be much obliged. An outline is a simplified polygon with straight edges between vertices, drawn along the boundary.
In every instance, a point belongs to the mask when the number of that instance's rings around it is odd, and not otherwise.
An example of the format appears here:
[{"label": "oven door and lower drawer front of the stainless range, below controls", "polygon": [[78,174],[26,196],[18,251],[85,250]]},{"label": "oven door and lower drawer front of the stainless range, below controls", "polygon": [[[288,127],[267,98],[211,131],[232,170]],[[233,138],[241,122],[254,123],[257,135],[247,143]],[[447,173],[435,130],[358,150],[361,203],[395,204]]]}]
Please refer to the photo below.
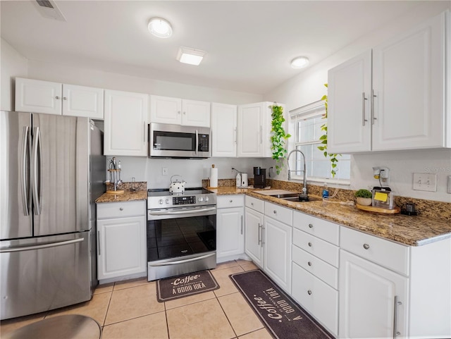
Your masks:
[{"label": "oven door and lower drawer front of the stainless range, below controls", "polygon": [[149,209],[148,280],[216,267],[216,206]]}]

